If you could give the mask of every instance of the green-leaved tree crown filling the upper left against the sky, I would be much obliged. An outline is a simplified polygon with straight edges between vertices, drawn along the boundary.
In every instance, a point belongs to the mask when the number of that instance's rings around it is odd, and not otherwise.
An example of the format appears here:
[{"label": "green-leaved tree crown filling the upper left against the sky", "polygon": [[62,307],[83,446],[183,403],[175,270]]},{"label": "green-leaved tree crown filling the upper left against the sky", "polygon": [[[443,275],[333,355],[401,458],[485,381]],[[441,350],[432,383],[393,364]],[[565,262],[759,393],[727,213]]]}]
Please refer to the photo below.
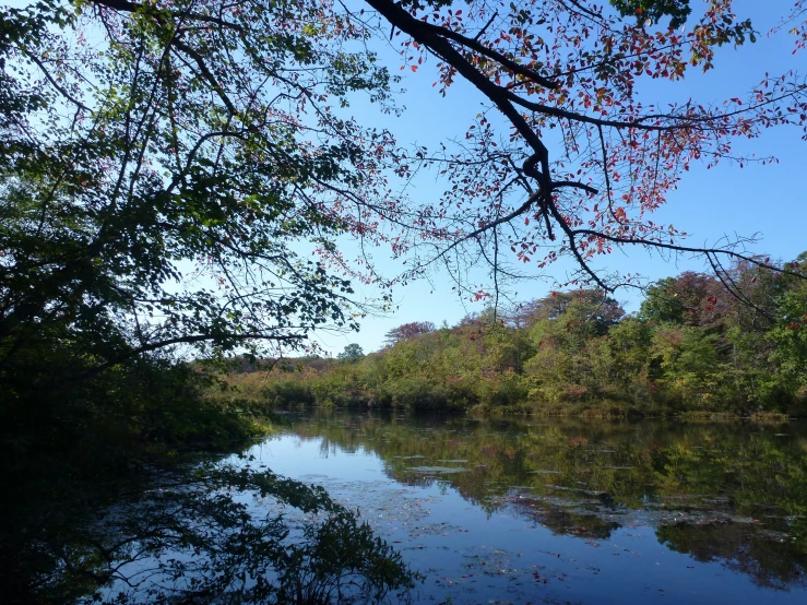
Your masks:
[{"label": "green-leaved tree crown filling the upper left against the sky", "polygon": [[358,228],[344,192],[381,178],[389,134],[333,109],[388,107],[387,69],[341,46],[360,31],[315,1],[120,0],[10,9],[0,31],[3,381],[355,327],[349,278],[295,245],[335,252]]}]

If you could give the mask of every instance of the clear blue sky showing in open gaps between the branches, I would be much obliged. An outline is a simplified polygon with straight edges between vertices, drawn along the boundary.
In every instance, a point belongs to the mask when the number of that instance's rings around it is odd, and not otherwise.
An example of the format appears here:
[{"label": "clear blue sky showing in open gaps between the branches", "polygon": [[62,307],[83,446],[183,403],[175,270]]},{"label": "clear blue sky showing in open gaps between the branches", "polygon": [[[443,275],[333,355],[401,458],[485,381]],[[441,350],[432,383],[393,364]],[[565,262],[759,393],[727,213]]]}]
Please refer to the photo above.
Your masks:
[{"label": "clear blue sky showing in open gaps between the branches", "polygon": [[[692,0],[696,8],[698,1]],[[749,16],[756,31],[762,34],[758,36],[758,41],[737,49],[731,45],[720,48],[716,69],[707,73],[690,71],[684,81],[675,83],[649,81],[640,90],[640,98],[644,103],[668,103],[689,97],[703,102],[745,97],[767,71],[778,73],[795,68],[807,73],[807,54],[792,54],[792,36],[767,35],[776,25],[779,15],[791,5],[791,0],[735,2],[735,12]],[[381,49],[381,58],[403,78],[401,85],[405,93],[401,103],[406,110],[400,118],[379,118],[378,123],[395,132],[400,142],[434,146],[443,139],[461,137],[484,106],[482,94],[464,82],[458,82],[449,88],[444,98],[441,97],[432,87],[436,78],[435,72],[429,70],[434,70],[434,61],[427,62],[417,73],[412,73],[410,70],[396,71],[401,60],[390,49]],[[363,109],[365,116],[372,119]],[[739,168],[723,163],[711,170],[707,170],[705,165],[695,165],[678,190],[669,195],[666,206],[655,213],[653,221],[672,223],[687,232],[690,234],[688,244],[693,246],[714,245],[724,236],[755,236],[758,241],[751,246],[751,252],[770,254],[774,259],[794,259],[807,250],[807,143],[802,140],[802,134],[797,128],[776,128],[736,147],[758,156],[774,155],[779,164],[749,164]],[[440,191],[439,182],[424,180],[417,182],[410,194],[419,200],[439,195]],[[349,252],[353,244],[343,241],[341,246]],[[383,249],[377,249],[373,257],[388,274],[396,274],[403,269],[389,260],[389,253]],[[702,260],[687,257],[670,259],[638,249],[630,256],[620,252],[610,254],[603,268],[638,272],[650,281],[686,270],[707,270]],[[556,264],[550,269],[550,275],[562,280],[563,271],[562,264]],[[553,278],[525,282],[515,288],[519,290],[517,298],[539,298],[556,288]],[[359,295],[367,297],[379,294],[372,288],[357,289]],[[357,343],[365,353],[369,353],[382,347],[384,334],[403,323],[431,321],[439,327],[444,321],[453,325],[467,313],[484,308],[484,304],[474,304],[458,296],[452,290],[449,276],[439,272],[431,275],[429,281],[399,286],[392,294],[394,312],[366,317],[358,333],[318,332],[313,340],[333,355],[349,343]],[[641,301],[641,295],[636,290],[620,289],[615,297],[628,311],[636,311]]]}]

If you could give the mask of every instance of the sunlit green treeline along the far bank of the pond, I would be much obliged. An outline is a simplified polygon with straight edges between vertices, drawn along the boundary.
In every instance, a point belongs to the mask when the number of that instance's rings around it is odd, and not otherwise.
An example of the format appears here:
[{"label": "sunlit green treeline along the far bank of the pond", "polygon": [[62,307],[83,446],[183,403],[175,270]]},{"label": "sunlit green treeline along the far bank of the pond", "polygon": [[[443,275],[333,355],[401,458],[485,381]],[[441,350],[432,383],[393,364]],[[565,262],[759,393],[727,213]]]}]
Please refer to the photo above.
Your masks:
[{"label": "sunlit green treeline along the far bank of the pond", "polygon": [[590,415],[807,414],[807,253],[785,272],[735,264],[646,289],[638,313],[557,292],[453,328],[404,324],[367,356],[228,380],[272,405]]}]

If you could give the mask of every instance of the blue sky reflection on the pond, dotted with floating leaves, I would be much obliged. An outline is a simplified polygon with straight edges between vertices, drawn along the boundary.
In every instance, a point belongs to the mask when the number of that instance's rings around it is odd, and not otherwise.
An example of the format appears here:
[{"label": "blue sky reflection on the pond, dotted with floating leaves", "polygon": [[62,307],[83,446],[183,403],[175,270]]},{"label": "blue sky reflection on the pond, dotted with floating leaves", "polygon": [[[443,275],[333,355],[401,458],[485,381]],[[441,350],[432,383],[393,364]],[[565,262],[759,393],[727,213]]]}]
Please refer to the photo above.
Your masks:
[{"label": "blue sky reflection on the pond, dotted with floating leaves", "polygon": [[[607,539],[556,535],[515,495],[488,514],[447,481],[404,485],[360,446],[274,437],[248,453],[258,464],[324,486],[403,554],[426,581],[415,597],[454,603],[807,603],[807,591],[774,591],[721,561],[699,562],[658,542],[643,513],[616,515]],[[435,460],[406,461],[437,466]],[[446,463],[446,465],[451,465]],[[428,483],[428,482],[427,482]],[[525,499],[529,503],[529,499]],[[607,521],[607,520],[606,520]]]}]

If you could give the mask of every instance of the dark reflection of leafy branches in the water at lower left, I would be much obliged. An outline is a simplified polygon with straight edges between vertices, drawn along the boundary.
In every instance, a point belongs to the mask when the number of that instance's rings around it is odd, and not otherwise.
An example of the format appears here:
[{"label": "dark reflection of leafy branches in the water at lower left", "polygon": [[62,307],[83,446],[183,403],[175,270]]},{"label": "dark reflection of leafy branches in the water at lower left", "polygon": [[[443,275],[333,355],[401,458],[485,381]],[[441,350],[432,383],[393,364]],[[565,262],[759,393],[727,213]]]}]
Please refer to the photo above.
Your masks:
[{"label": "dark reflection of leafy branches in the water at lower left", "polygon": [[321,487],[269,471],[201,465],[93,508],[13,550],[0,539],[19,566],[0,576],[3,603],[407,601],[417,578]]}]

